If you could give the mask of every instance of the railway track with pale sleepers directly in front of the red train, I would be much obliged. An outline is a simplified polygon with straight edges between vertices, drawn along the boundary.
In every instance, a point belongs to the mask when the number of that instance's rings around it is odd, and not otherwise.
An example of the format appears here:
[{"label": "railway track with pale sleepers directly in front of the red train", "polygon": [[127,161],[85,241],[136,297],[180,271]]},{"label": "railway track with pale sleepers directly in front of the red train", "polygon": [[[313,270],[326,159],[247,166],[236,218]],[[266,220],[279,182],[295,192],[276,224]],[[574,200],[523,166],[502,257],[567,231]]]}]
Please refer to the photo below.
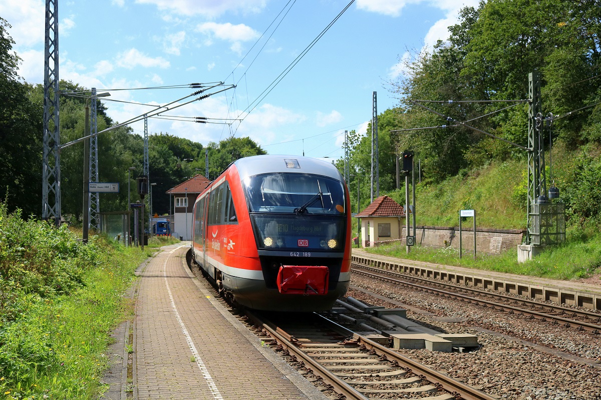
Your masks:
[{"label": "railway track with pale sleepers directly in front of the red train", "polygon": [[[496,399],[319,314],[247,312],[323,392],[338,399]],[[269,318],[269,320],[267,319]]]}]

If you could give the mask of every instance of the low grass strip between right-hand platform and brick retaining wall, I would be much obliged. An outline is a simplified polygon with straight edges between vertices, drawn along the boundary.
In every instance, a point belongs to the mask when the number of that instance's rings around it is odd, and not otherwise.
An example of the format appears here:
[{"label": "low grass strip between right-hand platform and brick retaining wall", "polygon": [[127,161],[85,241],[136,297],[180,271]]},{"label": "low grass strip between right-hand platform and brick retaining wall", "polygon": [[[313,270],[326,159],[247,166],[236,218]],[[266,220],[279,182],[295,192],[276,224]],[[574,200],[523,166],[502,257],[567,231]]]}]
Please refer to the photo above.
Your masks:
[{"label": "low grass strip between right-hand platform and brick retaining wall", "polygon": [[366,248],[373,254],[429,263],[461,266],[472,269],[492,270],[513,273],[515,275],[540,276],[549,279],[579,279],[599,271],[601,267],[601,233],[589,239],[572,239],[560,246],[549,246],[534,260],[517,262],[517,249],[509,249],[499,255],[463,252],[459,258],[459,249],[452,247],[432,248],[413,246],[409,254],[406,247],[398,243]]}]

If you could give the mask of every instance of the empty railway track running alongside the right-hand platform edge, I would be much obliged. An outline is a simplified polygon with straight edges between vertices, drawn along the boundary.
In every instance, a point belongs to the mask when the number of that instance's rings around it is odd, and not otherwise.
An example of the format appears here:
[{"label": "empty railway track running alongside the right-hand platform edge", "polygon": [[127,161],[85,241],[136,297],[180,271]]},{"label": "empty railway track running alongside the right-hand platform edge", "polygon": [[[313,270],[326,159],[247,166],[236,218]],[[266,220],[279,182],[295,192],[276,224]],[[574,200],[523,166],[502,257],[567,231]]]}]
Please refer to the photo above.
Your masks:
[{"label": "empty railway track running alongside the right-hand platform edge", "polygon": [[432,279],[420,278],[419,276],[406,275],[356,263],[352,264],[352,272],[373,279],[410,287],[414,290],[427,291],[437,296],[452,297],[461,301],[478,304],[493,310],[526,315],[535,320],[547,321],[566,328],[571,327],[581,331],[586,330],[594,335],[599,335],[601,332],[601,314],[595,312],[506,296],[500,293],[453,285],[442,281],[433,281]]}]

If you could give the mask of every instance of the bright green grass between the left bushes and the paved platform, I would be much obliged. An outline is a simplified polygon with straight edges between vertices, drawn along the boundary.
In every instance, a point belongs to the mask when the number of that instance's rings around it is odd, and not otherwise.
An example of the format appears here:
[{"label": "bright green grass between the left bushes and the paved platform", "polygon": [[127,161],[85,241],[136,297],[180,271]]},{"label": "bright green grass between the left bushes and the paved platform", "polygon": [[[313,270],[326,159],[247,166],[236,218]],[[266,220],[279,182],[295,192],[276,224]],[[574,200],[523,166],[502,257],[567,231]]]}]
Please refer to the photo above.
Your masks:
[{"label": "bright green grass between the left bushes and the paved platform", "polygon": [[28,303],[28,311],[4,327],[0,394],[6,399],[91,399],[102,392],[111,330],[130,317],[123,297],[133,271],[148,255],[123,249],[85,275],[72,296]]}]

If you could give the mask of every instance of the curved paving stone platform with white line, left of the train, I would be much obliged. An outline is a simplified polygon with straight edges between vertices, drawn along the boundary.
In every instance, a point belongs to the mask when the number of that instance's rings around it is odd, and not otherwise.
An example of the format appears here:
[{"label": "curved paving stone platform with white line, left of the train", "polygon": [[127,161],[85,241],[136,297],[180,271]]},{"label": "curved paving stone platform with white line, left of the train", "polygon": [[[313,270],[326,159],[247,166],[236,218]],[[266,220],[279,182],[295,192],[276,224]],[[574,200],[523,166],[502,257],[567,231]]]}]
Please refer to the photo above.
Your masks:
[{"label": "curved paving stone platform with white line, left of the train", "polygon": [[214,299],[188,249],[165,246],[141,271],[133,398],[327,399]]}]

